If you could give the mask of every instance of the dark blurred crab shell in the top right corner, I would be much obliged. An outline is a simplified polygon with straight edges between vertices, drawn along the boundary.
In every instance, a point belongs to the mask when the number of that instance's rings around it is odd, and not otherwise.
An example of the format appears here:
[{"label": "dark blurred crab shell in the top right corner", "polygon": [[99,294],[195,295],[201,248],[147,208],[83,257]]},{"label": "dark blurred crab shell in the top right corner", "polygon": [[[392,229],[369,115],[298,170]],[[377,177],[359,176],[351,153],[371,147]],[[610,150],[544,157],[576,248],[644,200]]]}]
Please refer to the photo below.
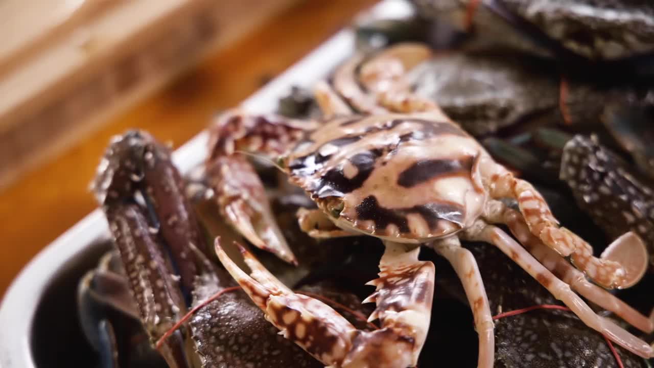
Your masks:
[{"label": "dark blurred crab shell in the top right corner", "polygon": [[[654,3],[649,0],[411,0],[423,18],[458,28],[472,22],[473,48],[508,46],[553,56],[530,37],[546,37],[590,60],[616,60],[654,51]],[[524,23],[524,24],[523,24]],[[475,45],[477,44],[477,45]],[[551,51],[551,50],[550,50]]]}]

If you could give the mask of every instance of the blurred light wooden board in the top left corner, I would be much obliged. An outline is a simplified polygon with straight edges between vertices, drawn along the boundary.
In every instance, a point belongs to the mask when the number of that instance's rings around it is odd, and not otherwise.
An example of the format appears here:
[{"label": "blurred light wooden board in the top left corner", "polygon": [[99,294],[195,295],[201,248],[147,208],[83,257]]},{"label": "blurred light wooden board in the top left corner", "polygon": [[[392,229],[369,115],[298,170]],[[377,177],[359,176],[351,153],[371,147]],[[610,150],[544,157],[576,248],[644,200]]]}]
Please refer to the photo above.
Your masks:
[{"label": "blurred light wooden board in the top left corner", "polygon": [[0,188],[297,2],[0,3]]}]

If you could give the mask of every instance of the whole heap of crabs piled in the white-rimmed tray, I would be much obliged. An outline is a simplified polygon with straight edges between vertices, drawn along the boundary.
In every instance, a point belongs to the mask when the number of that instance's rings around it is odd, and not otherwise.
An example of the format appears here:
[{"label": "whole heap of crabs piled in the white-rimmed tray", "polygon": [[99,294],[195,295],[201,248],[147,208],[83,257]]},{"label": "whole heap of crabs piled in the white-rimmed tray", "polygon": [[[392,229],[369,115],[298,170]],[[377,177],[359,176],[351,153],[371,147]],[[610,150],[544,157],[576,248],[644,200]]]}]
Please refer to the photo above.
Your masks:
[{"label": "whole heap of crabs piled in the white-rimmed tray", "polygon": [[98,367],[650,366],[654,5],[414,3],[188,177],[111,141]]}]

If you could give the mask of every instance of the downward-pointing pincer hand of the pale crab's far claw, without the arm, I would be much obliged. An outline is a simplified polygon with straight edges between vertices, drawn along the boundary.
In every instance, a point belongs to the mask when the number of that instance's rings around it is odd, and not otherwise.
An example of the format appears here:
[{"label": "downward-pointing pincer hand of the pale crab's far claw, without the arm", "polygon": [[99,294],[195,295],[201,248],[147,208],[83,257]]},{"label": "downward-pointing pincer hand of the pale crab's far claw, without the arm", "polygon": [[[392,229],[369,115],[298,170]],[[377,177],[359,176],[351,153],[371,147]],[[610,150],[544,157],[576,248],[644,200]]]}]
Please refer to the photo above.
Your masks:
[{"label": "downward-pointing pincer hand of the pale crab's far claw, without the arm", "polygon": [[207,163],[207,177],[222,215],[235,229],[257,248],[298,264],[275,222],[261,179],[243,156],[217,156]]}]

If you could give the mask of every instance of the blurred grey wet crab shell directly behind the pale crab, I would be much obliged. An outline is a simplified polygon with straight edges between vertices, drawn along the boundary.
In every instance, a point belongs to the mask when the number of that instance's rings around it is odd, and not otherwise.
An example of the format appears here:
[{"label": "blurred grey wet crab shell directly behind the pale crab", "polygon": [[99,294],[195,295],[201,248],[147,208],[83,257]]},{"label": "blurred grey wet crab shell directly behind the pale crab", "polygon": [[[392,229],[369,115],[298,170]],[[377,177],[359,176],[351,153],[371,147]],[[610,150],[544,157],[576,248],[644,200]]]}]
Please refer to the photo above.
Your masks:
[{"label": "blurred grey wet crab shell directly behind the pale crab", "polygon": [[473,136],[530,115],[560,121],[559,76],[527,60],[506,54],[443,54],[407,73],[407,81]]}]

